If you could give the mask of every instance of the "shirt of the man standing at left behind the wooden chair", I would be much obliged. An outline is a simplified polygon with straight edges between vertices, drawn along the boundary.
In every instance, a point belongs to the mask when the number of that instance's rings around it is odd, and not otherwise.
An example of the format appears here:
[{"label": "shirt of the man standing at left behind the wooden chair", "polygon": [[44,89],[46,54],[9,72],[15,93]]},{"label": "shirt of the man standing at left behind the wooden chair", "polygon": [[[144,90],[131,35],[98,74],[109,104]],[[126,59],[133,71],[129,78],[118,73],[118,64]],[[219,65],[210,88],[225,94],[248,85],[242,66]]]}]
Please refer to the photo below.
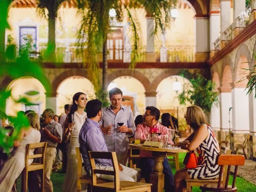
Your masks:
[{"label": "shirt of the man standing at left behind the wooden chair", "polygon": [[[50,131],[50,133],[56,137],[58,137],[60,140],[62,140],[62,126],[58,123],[52,120],[48,125],[44,127],[44,129],[47,129]],[[45,133],[44,130],[40,130],[41,132],[41,141],[40,142],[47,142],[47,147],[57,147],[56,142],[51,140]]]}]

